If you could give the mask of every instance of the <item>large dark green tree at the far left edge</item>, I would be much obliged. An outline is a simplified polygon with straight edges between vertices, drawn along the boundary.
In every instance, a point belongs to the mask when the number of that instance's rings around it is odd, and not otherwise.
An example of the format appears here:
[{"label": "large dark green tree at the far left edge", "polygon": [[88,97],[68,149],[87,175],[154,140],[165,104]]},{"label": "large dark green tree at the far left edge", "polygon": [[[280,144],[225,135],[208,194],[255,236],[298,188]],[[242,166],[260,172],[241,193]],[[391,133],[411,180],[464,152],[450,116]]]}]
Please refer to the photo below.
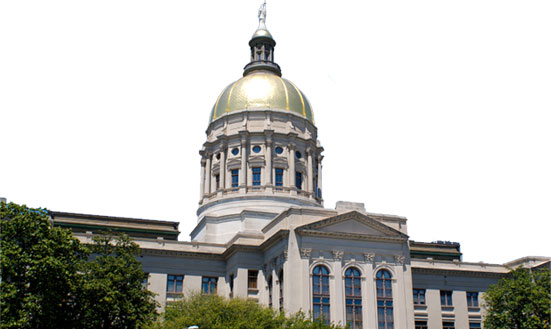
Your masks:
[{"label": "large dark green tree at the far left edge", "polygon": [[88,251],[44,209],[0,204],[1,328],[77,327],[78,269]]}]

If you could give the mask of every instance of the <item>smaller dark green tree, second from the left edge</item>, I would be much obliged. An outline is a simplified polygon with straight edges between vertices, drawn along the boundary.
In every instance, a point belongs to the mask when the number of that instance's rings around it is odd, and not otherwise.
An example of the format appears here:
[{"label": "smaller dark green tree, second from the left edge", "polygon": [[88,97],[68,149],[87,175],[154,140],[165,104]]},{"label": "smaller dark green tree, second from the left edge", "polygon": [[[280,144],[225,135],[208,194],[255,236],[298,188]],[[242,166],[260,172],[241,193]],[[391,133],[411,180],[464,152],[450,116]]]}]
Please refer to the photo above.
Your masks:
[{"label": "smaller dark green tree, second from the left edge", "polygon": [[93,260],[83,264],[79,287],[81,328],[141,328],[156,318],[139,247],[127,235],[96,236]]}]

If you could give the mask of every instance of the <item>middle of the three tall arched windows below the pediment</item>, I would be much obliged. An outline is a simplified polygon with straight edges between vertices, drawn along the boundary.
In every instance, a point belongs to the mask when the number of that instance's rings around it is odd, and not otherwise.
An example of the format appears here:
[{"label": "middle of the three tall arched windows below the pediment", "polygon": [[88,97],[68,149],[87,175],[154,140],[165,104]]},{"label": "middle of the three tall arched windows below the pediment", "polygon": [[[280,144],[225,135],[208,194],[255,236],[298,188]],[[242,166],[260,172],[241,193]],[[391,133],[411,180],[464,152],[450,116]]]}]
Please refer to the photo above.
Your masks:
[{"label": "middle of the three tall arched windows below the pediment", "polygon": [[344,294],[346,298],[346,323],[350,329],[362,328],[361,275],[355,267],[344,272]]}]

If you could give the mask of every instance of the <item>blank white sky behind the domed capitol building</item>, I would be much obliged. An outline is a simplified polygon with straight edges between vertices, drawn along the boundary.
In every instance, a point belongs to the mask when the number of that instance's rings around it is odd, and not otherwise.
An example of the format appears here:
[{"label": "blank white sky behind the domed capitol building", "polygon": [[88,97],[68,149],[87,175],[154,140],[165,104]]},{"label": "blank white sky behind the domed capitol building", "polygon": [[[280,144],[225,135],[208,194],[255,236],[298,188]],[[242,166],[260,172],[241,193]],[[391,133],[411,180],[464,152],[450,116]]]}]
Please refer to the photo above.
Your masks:
[{"label": "blank white sky behind the domed capitol building", "polygon": [[[218,94],[260,0],[0,2],[0,196],[196,223]],[[325,147],[325,205],[408,217],[466,261],[551,256],[551,2],[269,1]]]}]

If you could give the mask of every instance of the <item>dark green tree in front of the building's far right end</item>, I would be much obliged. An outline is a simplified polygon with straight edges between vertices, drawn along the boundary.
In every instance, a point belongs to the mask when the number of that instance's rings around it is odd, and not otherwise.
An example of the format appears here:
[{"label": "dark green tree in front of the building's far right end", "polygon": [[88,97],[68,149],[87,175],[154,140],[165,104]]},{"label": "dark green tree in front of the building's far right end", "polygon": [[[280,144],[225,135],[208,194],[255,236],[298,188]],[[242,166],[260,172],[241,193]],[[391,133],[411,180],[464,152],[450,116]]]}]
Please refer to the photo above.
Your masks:
[{"label": "dark green tree in front of the building's far right end", "polygon": [[551,311],[549,270],[518,268],[484,293],[487,329],[549,329]]}]

